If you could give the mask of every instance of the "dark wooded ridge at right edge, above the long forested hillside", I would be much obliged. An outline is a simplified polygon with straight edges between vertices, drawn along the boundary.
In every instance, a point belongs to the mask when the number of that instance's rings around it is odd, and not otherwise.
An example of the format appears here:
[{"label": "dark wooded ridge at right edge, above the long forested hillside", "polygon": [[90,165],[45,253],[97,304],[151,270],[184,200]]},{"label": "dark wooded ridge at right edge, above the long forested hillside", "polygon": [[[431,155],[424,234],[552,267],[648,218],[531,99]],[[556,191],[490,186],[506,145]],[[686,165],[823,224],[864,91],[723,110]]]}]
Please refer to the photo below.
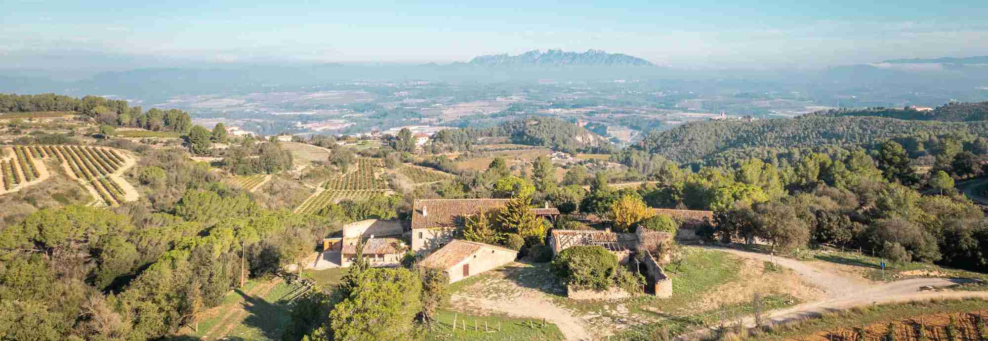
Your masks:
[{"label": "dark wooded ridge at right edge, above the long forested hillside", "polygon": [[949,122],[971,122],[988,120],[988,102],[979,103],[957,103],[951,102],[945,106],[937,107],[933,111],[917,111],[910,109],[892,108],[868,108],[855,110],[831,110],[806,115],[838,118],[849,116],[873,116],[880,118],[892,118],[899,120],[916,121],[949,121]]}]

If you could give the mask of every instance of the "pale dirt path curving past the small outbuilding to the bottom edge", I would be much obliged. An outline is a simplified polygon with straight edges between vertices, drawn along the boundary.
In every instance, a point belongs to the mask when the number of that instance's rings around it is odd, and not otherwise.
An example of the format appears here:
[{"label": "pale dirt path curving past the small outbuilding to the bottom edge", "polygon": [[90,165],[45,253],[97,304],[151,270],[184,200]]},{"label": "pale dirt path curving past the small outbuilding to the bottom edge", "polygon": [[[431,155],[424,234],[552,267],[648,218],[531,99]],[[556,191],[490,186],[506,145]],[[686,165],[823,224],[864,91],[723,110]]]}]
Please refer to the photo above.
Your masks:
[{"label": "pale dirt path curving past the small outbuilding to the bottom edge", "polygon": [[486,298],[468,298],[461,295],[453,295],[451,301],[454,303],[466,303],[471,306],[479,306],[484,309],[495,310],[516,317],[529,317],[542,319],[549,323],[554,323],[559,327],[566,340],[571,341],[591,341],[593,336],[587,331],[587,321],[581,317],[574,316],[569,310],[556,306],[549,298],[541,292],[528,292],[522,296],[492,300]]}]

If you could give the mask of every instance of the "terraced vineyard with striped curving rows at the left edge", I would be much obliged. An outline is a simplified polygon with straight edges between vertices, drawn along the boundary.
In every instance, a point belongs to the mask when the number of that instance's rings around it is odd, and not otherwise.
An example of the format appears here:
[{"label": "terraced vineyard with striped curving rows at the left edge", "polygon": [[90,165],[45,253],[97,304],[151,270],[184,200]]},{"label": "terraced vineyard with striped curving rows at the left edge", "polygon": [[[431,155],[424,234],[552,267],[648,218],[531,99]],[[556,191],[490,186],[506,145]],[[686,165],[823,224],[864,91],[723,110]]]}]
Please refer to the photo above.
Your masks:
[{"label": "terraced vineyard with striped curving rows at the left edge", "polygon": [[15,191],[20,189],[20,185],[41,182],[48,171],[44,169],[43,162],[35,162],[35,159],[56,158],[101,203],[118,206],[136,199],[133,188],[120,183],[123,180],[119,173],[123,173],[124,166],[128,166],[121,151],[79,145],[15,145],[9,149],[12,152],[5,150],[0,154],[4,191]]}]

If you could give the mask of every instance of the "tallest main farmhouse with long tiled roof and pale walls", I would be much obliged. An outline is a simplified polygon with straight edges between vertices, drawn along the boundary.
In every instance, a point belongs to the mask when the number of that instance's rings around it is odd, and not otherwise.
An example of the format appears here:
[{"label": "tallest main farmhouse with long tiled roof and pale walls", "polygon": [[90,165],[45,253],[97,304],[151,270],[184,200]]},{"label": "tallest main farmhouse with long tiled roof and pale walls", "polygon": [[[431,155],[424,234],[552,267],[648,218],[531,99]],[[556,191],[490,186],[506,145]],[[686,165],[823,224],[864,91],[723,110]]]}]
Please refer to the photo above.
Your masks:
[{"label": "tallest main farmhouse with long tiled roof and pale walls", "polygon": [[[417,200],[412,211],[412,251],[425,254],[438,249],[463,226],[463,219],[476,213],[500,209],[511,199],[430,199]],[[557,209],[532,209],[541,217],[553,219]]]}]

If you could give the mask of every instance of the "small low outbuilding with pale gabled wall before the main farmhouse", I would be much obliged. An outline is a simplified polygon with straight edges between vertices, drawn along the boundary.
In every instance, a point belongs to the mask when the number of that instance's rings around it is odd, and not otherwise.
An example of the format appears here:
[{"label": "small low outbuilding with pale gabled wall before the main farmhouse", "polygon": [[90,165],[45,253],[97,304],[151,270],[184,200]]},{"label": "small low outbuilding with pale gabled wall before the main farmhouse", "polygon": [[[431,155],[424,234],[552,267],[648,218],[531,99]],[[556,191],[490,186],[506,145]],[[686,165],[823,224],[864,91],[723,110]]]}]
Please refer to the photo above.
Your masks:
[{"label": "small low outbuilding with pale gabled wall before the main farmhouse", "polygon": [[426,257],[422,265],[446,271],[453,283],[511,263],[517,257],[518,251],[512,249],[455,239]]}]

